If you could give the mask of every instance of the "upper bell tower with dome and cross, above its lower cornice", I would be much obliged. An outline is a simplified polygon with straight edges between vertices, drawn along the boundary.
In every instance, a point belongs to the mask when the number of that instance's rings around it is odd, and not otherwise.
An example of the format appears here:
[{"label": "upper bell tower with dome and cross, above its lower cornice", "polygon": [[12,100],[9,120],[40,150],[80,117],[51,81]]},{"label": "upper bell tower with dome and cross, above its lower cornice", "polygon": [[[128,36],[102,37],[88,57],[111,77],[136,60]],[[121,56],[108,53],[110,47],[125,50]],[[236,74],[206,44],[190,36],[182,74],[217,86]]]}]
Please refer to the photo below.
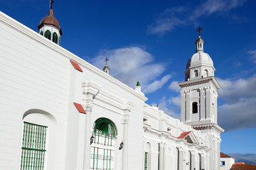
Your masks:
[{"label": "upper bell tower with dome and cross, above its lower cornice", "polygon": [[217,124],[217,90],[220,84],[214,77],[215,68],[210,56],[203,52],[204,40],[196,39],[196,53],[188,60],[185,80],[181,86],[181,121],[187,125]]}]

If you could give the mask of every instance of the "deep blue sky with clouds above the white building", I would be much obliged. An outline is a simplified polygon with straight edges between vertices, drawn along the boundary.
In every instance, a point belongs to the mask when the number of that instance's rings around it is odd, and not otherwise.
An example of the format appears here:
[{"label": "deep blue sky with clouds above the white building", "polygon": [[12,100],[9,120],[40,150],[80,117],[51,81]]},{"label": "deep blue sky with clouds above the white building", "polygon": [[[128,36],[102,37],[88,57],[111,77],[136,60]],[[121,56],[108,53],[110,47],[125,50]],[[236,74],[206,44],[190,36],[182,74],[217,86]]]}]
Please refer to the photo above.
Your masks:
[{"label": "deep blue sky with clouds above the white building", "polygon": [[[48,0],[0,1],[0,10],[32,30],[48,15]],[[221,151],[256,164],[256,1],[58,1],[60,45],[134,88],[146,103],[180,118],[177,82],[195,52],[203,27],[204,51],[213,60],[218,123],[225,128]],[[249,155],[249,156],[248,156]],[[243,157],[244,159],[240,159]]]}]

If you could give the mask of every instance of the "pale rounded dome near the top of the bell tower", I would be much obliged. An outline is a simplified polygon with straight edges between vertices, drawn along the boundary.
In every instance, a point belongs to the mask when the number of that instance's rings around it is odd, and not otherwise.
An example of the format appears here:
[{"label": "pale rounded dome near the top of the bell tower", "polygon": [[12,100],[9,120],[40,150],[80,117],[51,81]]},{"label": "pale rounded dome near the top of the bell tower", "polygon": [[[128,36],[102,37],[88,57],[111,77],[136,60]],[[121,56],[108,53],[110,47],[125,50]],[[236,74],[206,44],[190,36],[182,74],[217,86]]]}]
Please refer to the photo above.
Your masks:
[{"label": "pale rounded dome near the top of the bell tower", "polygon": [[210,55],[206,52],[196,52],[186,65],[186,69],[193,66],[206,65],[213,67],[213,60],[211,60]]}]

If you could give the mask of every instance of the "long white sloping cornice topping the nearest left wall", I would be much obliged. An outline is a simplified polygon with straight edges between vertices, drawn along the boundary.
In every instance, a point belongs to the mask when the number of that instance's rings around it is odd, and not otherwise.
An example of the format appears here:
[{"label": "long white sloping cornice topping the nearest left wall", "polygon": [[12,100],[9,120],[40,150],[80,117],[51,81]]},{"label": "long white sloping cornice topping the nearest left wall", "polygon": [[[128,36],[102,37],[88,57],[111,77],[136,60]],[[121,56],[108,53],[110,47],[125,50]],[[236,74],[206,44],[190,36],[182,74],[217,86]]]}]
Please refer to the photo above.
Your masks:
[{"label": "long white sloping cornice topping the nearest left wall", "polygon": [[145,96],[137,93],[137,91],[135,91],[131,87],[127,86],[126,84],[123,84],[121,81],[115,79],[114,77],[111,77],[110,75],[105,74],[105,72],[102,72],[97,67],[86,62],[85,60],[82,60],[80,57],[78,57],[77,55],[74,55],[72,52],[65,50],[60,45],[57,45],[54,42],[48,40],[47,38],[44,38],[39,33],[35,32],[34,30],[31,30],[31,28],[24,26],[23,24],[14,20],[10,16],[7,16],[5,13],[3,13],[1,11],[0,11],[0,22],[6,26],[13,28],[14,30],[17,30],[19,33],[22,33],[23,35],[26,35],[26,37],[31,38],[32,40],[35,40],[36,42],[40,43],[41,45],[48,47],[48,49],[58,52],[63,57],[68,58],[68,60],[73,60],[74,62],[77,62],[78,64],[80,64],[80,66],[85,67],[86,69],[89,69],[91,72],[95,72],[95,74],[100,75],[100,77],[104,77],[105,79],[111,81],[113,84],[117,84],[117,86],[120,86],[120,87],[122,87],[122,89],[129,91],[129,93],[133,94],[134,96],[137,96],[138,98],[142,99],[143,101],[147,100],[147,98]]}]

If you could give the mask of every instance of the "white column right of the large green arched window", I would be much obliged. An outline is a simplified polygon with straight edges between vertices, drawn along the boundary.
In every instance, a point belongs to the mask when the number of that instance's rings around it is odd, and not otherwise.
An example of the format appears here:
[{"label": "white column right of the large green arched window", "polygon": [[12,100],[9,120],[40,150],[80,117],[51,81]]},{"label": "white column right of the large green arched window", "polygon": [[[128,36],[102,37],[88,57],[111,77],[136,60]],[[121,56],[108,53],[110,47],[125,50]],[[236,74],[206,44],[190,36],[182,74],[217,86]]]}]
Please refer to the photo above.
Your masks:
[{"label": "white column right of the large green arched window", "polygon": [[128,170],[128,125],[129,125],[129,111],[124,110],[124,117],[122,119],[123,126],[123,143],[122,148],[122,170]]}]

